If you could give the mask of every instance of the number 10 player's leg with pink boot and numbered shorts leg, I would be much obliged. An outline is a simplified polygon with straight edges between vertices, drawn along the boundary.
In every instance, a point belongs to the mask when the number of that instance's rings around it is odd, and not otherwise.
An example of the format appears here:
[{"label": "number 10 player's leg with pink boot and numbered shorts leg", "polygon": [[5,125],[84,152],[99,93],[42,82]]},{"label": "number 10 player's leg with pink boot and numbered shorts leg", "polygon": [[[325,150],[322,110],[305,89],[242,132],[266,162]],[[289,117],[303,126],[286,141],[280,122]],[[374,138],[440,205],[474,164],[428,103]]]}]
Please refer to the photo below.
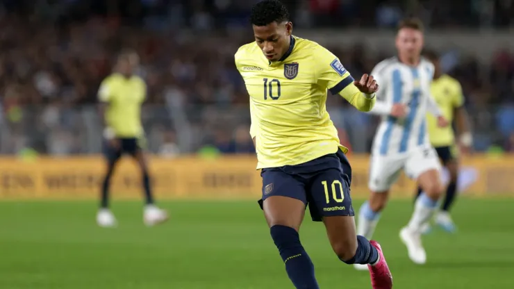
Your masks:
[{"label": "number 10 player's leg with pink boot and numbered shorts leg", "polygon": [[351,167],[344,154],[338,156],[340,167],[325,170],[310,183],[310,214],[315,221],[323,220],[332,249],[342,262],[367,265],[373,288],[391,288],[392,277],[380,245],[356,234],[349,190]]}]

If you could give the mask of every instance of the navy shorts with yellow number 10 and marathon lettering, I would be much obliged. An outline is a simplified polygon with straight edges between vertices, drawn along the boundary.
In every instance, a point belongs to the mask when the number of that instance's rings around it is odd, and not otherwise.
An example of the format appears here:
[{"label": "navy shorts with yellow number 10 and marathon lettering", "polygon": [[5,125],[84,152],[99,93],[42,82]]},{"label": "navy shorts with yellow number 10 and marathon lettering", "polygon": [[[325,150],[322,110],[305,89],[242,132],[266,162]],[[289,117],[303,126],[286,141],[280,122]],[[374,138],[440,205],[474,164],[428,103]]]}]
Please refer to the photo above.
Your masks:
[{"label": "navy shorts with yellow number 10 and marathon lettering", "polygon": [[350,184],[351,167],[342,151],[328,154],[300,165],[263,169],[263,201],[272,196],[291,197],[309,207],[310,217],[353,216]]}]

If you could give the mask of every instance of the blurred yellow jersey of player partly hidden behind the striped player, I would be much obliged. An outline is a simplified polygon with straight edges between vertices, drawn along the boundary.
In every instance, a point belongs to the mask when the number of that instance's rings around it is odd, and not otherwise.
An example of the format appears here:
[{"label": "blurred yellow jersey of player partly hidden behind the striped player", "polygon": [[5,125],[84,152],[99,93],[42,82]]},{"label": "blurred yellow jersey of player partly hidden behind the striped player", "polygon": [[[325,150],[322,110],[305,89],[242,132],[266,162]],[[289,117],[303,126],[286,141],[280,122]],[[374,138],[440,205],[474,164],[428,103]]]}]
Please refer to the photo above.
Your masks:
[{"label": "blurred yellow jersey of player partly hidden behind the striped player", "polygon": [[[436,100],[442,115],[453,122],[454,110],[464,104],[461,84],[453,77],[444,74],[438,79],[434,79],[431,84],[431,94]],[[454,130],[450,126],[439,127],[437,119],[433,115],[427,115],[427,127],[429,130],[429,138],[433,147],[447,147],[454,145]]]}]

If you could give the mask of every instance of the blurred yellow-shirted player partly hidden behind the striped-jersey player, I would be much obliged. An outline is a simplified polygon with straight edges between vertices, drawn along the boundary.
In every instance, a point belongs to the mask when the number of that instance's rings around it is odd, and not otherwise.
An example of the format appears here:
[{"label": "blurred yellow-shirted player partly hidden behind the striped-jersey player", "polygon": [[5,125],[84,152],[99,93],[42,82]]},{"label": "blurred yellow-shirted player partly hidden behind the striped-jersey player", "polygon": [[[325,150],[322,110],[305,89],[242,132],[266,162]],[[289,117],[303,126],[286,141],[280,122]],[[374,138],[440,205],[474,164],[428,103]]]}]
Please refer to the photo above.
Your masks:
[{"label": "blurred yellow-shirted player partly hidden behind the striped-jersey player", "polygon": [[[435,222],[442,229],[454,232],[456,226],[451,220],[449,209],[454,203],[457,195],[457,176],[458,176],[458,149],[470,151],[473,138],[470,131],[467,112],[464,107],[464,97],[461,84],[451,76],[442,74],[440,67],[440,58],[435,51],[426,51],[424,53],[435,67],[433,82],[431,85],[431,93],[442,110],[442,114],[452,122],[455,119],[456,134],[458,135],[458,144],[456,144],[454,129],[451,126],[440,127],[437,119],[432,115],[427,115],[427,126],[429,129],[430,142],[436,149],[436,152],[449,172],[449,183],[446,195],[442,201],[440,211],[435,215]],[[417,197],[422,194],[422,188],[417,189]]]}]

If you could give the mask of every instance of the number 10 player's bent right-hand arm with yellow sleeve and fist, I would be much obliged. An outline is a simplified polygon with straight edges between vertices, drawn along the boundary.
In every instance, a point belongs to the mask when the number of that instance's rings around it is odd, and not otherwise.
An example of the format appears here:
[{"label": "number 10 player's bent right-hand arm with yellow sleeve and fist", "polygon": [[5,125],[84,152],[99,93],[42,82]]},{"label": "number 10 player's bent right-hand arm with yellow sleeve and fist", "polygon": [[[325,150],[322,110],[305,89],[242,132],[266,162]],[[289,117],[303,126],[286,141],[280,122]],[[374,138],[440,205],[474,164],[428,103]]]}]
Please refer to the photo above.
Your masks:
[{"label": "number 10 player's bent right-hand arm with yellow sleeve and fist", "polygon": [[339,94],[360,111],[372,110],[376,101],[375,92],[378,90],[374,79],[364,74],[360,81],[355,81],[333,53],[323,47],[317,50],[315,67],[318,68],[318,84],[328,88],[331,94]]}]

